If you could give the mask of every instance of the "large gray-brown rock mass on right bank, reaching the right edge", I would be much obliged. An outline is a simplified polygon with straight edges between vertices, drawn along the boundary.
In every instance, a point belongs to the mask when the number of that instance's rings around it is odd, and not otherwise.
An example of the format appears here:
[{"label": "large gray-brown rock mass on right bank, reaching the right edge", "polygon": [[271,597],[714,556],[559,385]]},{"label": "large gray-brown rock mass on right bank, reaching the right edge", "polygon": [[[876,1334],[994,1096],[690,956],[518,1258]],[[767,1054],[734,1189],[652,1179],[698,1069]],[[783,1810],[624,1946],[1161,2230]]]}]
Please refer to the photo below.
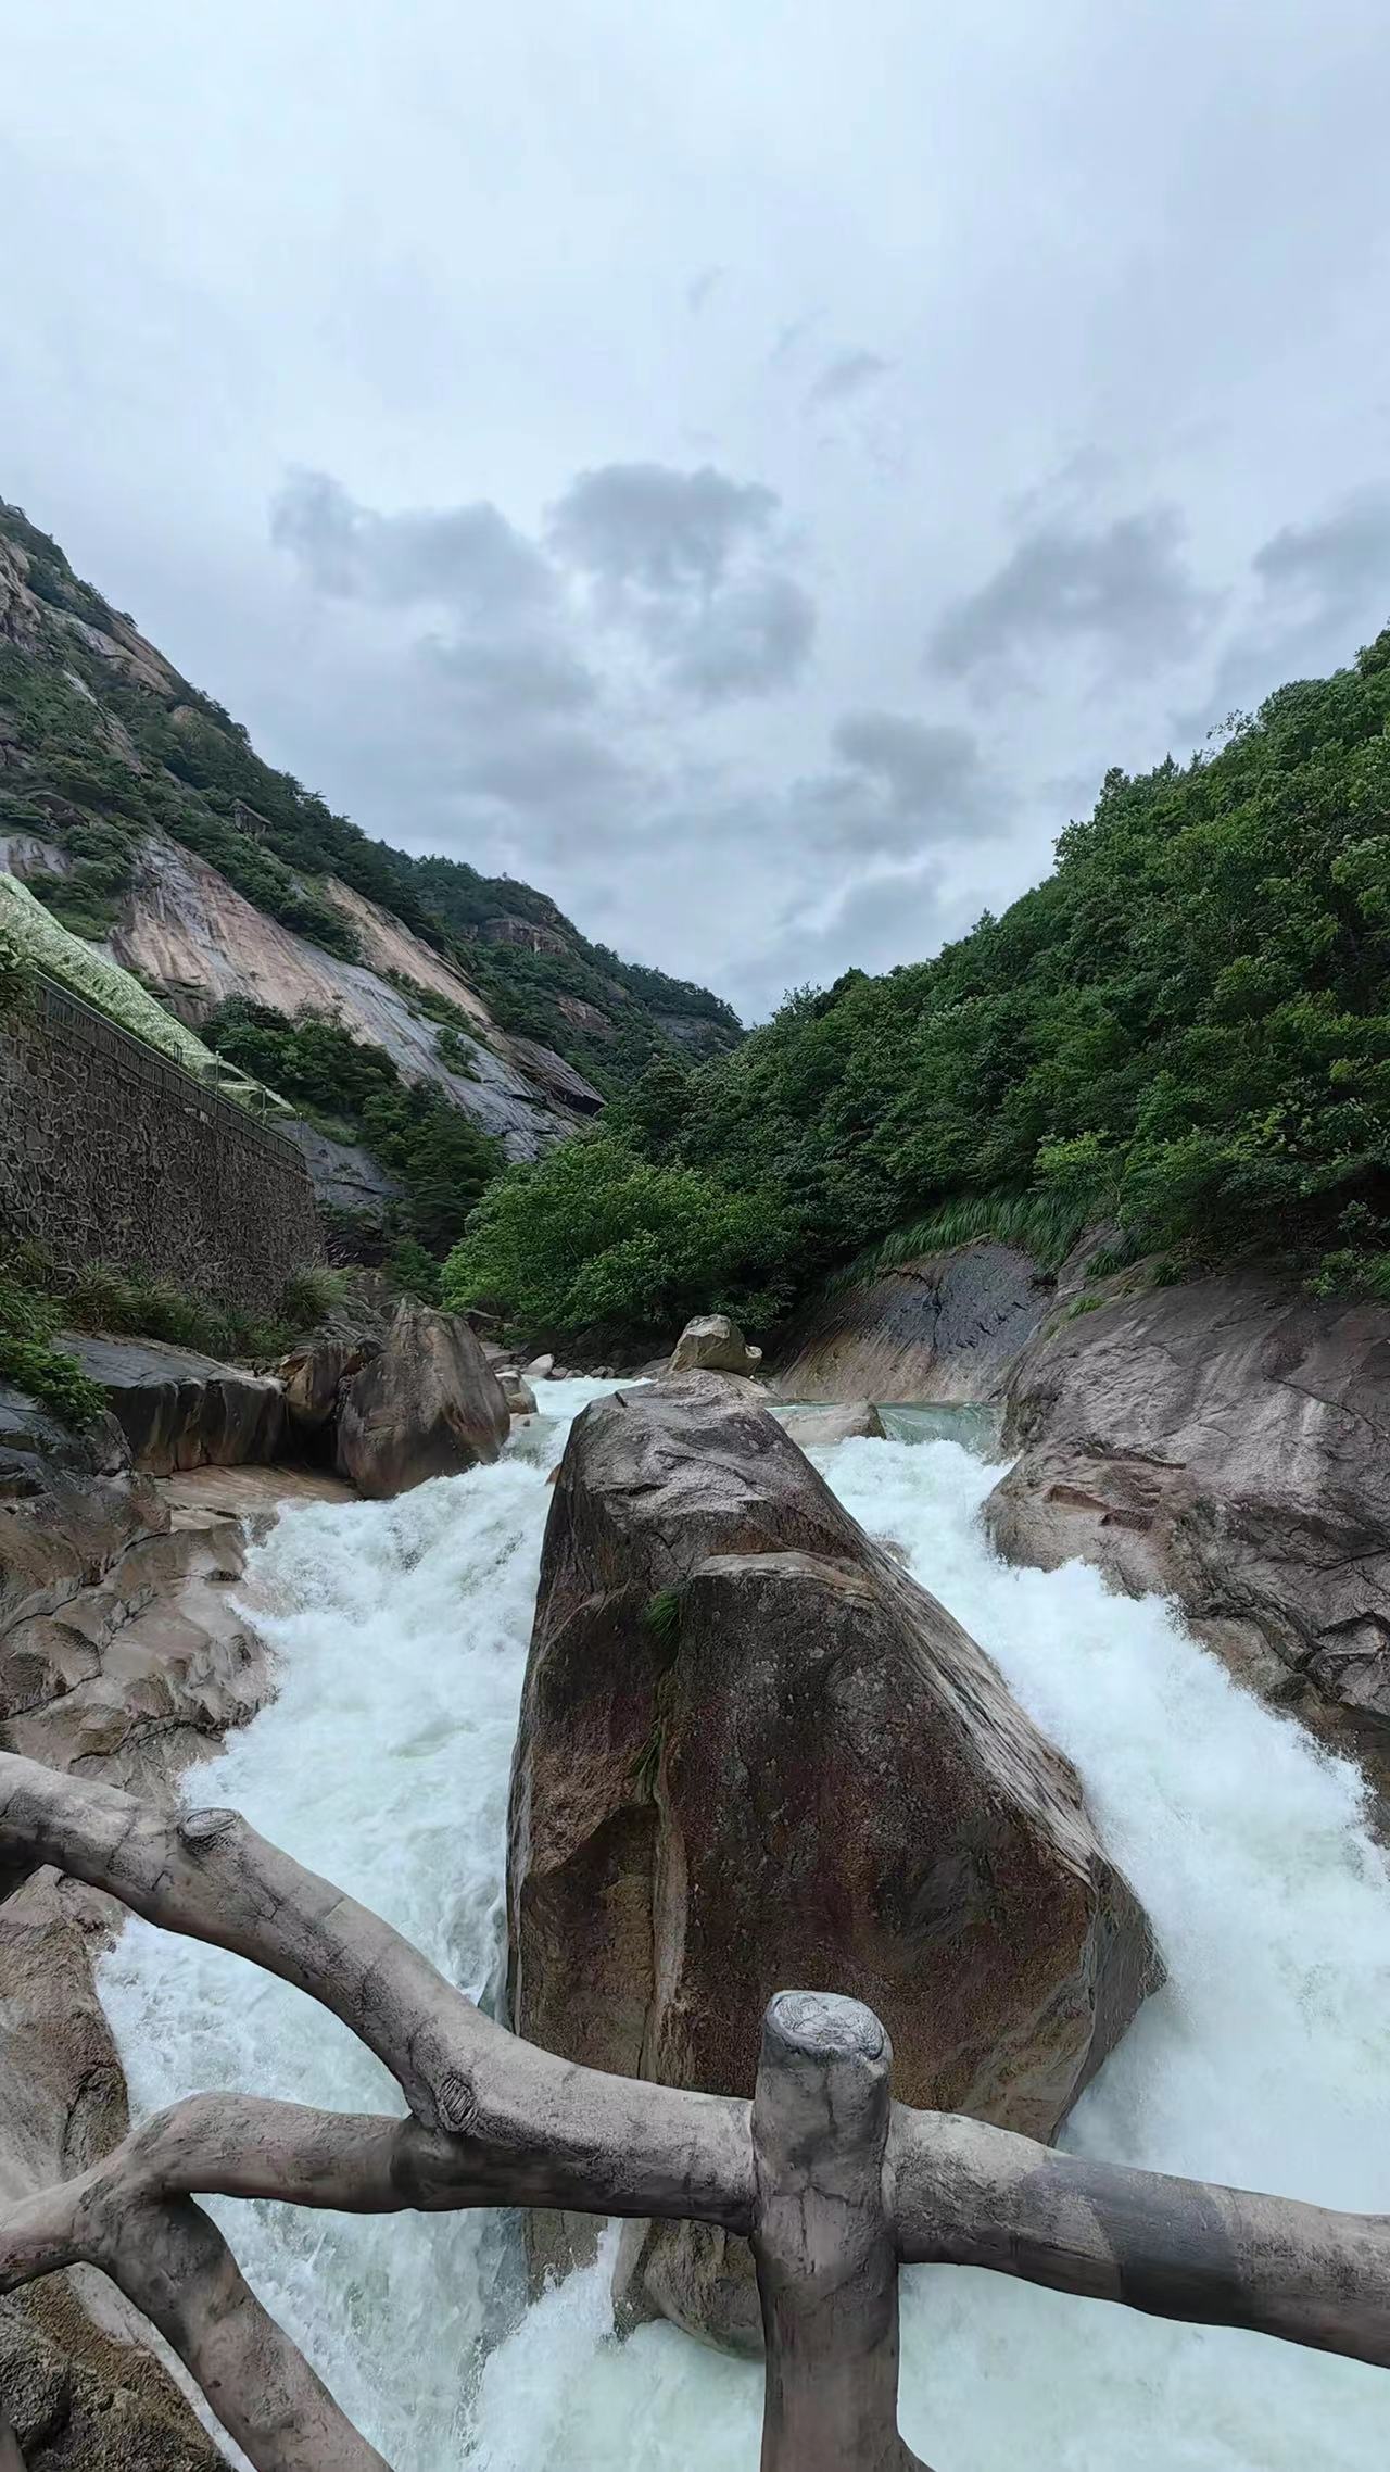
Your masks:
[{"label": "large gray-brown rock mass on right bank, reaching the right edge", "polygon": [[1390,1753],[1390,1313],[1261,1278],[1054,1320],[1009,1382],[1002,1552],[1177,1597],[1254,1683]]}]

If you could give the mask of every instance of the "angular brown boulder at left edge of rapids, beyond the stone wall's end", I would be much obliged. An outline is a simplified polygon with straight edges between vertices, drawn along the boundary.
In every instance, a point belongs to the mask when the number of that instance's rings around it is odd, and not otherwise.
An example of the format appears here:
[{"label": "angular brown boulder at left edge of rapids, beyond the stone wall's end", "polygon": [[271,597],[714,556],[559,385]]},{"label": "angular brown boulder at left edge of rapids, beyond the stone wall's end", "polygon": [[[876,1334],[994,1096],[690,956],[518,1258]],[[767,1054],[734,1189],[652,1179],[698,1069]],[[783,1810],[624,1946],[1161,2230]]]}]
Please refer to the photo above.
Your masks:
[{"label": "angular brown boulder at left edge of rapids, beyond the stone wall's end", "polygon": [[512,1412],[458,1313],[403,1298],[381,1355],[344,1384],[339,1471],[381,1501],[497,1458]]}]

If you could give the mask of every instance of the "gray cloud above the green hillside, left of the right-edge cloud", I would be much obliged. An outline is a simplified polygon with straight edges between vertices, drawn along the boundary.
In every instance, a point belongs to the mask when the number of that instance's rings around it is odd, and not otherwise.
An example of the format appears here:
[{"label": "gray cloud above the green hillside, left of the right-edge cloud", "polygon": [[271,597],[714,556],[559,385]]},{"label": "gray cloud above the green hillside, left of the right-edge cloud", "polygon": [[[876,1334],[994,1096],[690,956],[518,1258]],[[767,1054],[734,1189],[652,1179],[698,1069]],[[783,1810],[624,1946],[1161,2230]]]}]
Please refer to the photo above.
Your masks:
[{"label": "gray cloud above the green hillside, left of the right-edge cloud", "polygon": [[952,601],[927,658],[947,677],[1012,670],[1064,640],[1091,640],[1106,667],[1187,660],[1217,601],[1182,559],[1172,507],[1111,524],[1041,524],[979,591]]}]

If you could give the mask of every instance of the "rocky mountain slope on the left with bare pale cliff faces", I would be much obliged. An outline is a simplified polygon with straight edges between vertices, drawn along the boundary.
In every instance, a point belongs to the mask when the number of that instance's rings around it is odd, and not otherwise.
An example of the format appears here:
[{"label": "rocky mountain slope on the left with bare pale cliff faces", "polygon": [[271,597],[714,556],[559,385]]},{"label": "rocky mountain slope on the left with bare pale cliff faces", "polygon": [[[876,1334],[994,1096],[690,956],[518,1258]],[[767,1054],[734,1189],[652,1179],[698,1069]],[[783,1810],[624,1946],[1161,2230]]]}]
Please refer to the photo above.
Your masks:
[{"label": "rocky mountain slope on the left with bare pale cliff faces", "polygon": [[215,1046],[260,1038],[265,1065],[277,1023],[284,1043],[331,1018],[512,1159],[653,1058],[742,1036],[707,989],[591,944],[532,885],[334,816],[5,502],[0,868]]}]

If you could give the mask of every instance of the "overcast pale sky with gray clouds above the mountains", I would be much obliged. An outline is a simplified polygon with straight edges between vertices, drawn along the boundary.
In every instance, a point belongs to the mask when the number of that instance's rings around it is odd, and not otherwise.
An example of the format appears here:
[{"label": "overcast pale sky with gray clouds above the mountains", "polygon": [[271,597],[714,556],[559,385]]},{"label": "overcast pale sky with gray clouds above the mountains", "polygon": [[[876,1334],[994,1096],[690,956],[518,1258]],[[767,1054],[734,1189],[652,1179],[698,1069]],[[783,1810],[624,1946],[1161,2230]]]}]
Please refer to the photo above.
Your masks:
[{"label": "overcast pale sky with gray clouds above the mountains", "polygon": [[1385,0],[0,0],[0,494],[747,1016],[1390,618]]}]

